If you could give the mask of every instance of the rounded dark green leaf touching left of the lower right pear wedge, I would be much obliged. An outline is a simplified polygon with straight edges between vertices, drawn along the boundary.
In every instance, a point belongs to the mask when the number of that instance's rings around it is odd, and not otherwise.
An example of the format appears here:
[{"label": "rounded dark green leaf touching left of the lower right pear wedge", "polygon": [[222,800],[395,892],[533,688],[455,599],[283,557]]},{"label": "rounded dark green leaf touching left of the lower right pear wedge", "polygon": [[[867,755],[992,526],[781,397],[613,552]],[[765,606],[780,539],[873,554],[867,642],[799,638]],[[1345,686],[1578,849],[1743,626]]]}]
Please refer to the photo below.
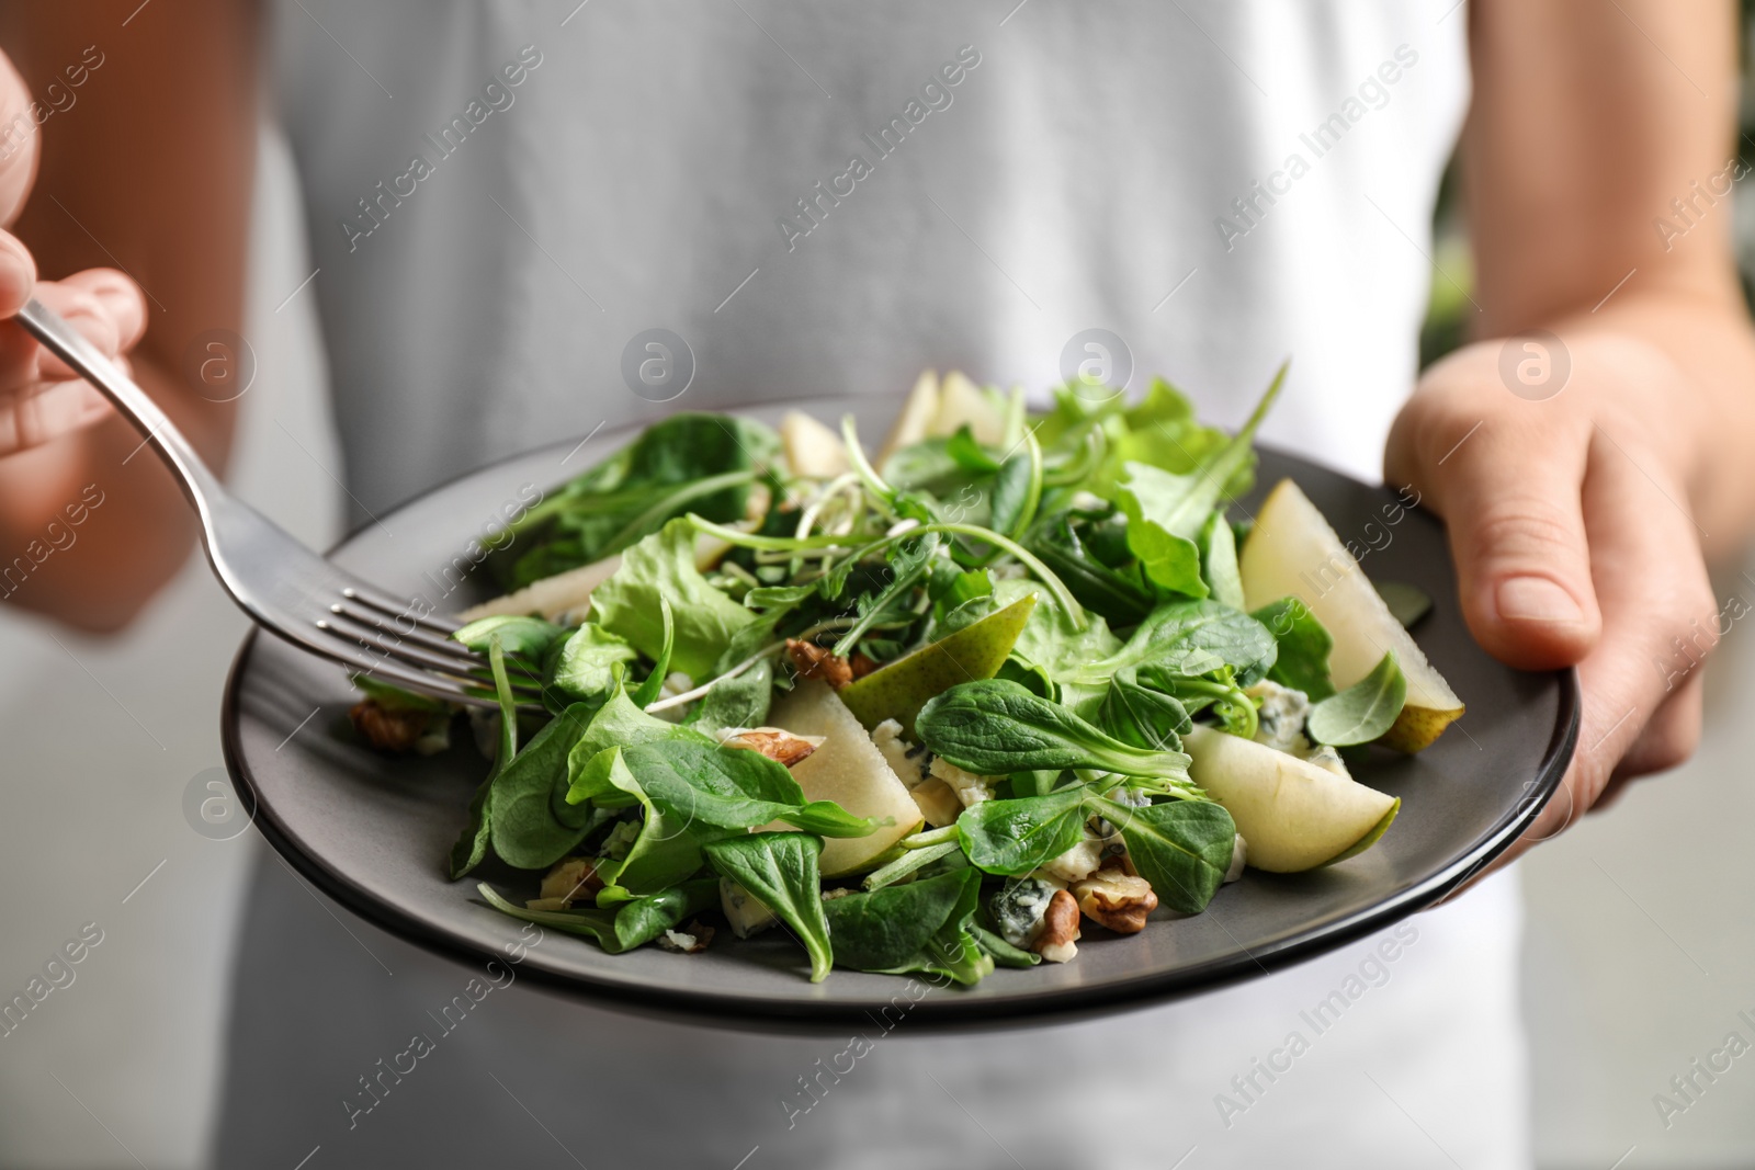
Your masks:
[{"label": "rounded dark green leaf touching left of the lower right pear wedge", "polygon": [[1237,842],[1237,824],[1225,805],[1172,800],[1132,809],[1102,796],[1090,805],[1120,830],[1134,868],[1172,910],[1199,914],[1225,882]]}]

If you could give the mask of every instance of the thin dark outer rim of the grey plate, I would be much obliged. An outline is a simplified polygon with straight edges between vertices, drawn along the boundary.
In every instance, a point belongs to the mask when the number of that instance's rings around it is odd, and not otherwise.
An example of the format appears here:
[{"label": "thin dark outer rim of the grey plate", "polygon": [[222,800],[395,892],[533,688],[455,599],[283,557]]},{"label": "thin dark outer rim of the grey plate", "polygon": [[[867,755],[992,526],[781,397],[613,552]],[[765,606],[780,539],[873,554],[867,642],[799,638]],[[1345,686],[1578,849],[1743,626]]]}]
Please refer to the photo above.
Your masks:
[{"label": "thin dark outer rim of the grey plate", "polygon": [[[763,407],[799,405],[804,402],[816,400],[758,402],[746,403],[739,409],[760,410]],[[639,423],[630,423],[628,430],[635,426],[639,426]],[[393,517],[416,505],[419,500],[456,486],[465,479],[505,463],[548,451],[560,451],[569,447],[569,442],[572,440],[544,444],[541,447],[518,451],[507,454],[505,458],[491,460],[469,468],[397,503],[393,509],[384,512],[384,516]],[[1309,463],[1306,456],[1286,451],[1276,444],[1258,444],[1258,447]],[[1325,470],[1353,479],[1351,475],[1336,472],[1334,468]],[[1364,484],[1364,481],[1358,479],[1353,479],[1353,482]],[[1371,484],[1365,486],[1369,488]],[[372,526],[370,521],[349,530],[333,546],[330,546],[325,556],[333,556],[337,551],[344,549],[369,526]],[[395,907],[381,902],[346,875],[330,870],[316,856],[305,854],[297,844],[293,844],[290,830],[281,824],[272,807],[261,802],[256,781],[251,775],[247,761],[244,760],[242,744],[239,742],[242,716],[239,693],[244,672],[251,663],[256,642],[261,635],[263,630],[260,626],[251,626],[246,631],[244,640],[226,670],[225,695],[219,705],[219,742],[225,767],[232,775],[232,782],[239,788],[242,803],[251,814],[251,823],[263,835],[269,845],[288,861],[288,865],[295,870],[295,875],[309,881],[321,893],[333,898],[342,907],[358,914],[379,930],[412,942],[421,949],[451,961],[470,963],[479,961],[481,958],[498,960],[500,956],[497,952],[483,951],[479,945],[455,931],[435,928],[414,914],[397,912]],[[925,1024],[930,1030],[946,1031],[1057,1024],[1083,1017],[1109,1016],[1120,1010],[1139,1010],[1195,993],[1216,991],[1223,986],[1253,979],[1264,972],[1274,974],[1288,967],[1295,967],[1306,960],[1346,945],[1348,942],[1376,933],[1390,923],[1400,921],[1418,910],[1437,905],[1511,847],[1522,831],[1529,828],[1537,816],[1541,816],[1541,810],[1548,805],[1548,800],[1553,798],[1553,793],[1558,789],[1560,781],[1571,765],[1581,723],[1578,672],[1574,668],[1564,668],[1548,674],[1551,674],[1558,684],[1558,710],[1548,747],[1536,768],[1536,775],[1530,779],[1529,795],[1522,798],[1516,807],[1506,810],[1494,823],[1494,826],[1479,837],[1478,844],[1469,849],[1469,853],[1437,874],[1415,882],[1408,889],[1385,898],[1383,902],[1329,923],[1327,926],[1304,930],[1255,951],[1243,949],[1239,944],[1241,954],[1246,960],[1253,960],[1251,963],[1239,963],[1237,954],[1225,954],[1221,958],[1207,960],[1197,967],[1106,982],[1099,996],[1092,995],[1092,988],[1044,989],[1042,993],[1028,998],[1006,1000],[923,996],[913,1002],[907,1019],[916,1023],[916,1026]],[[614,982],[600,981],[588,974],[562,975],[539,967],[523,968],[519,972],[519,979],[530,979],[534,984],[549,991],[560,991],[572,1000],[584,1000],[600,1005],[612,1003],[618,1009],[627,1009],[642,1016],[672,1021],[686,1017],[693,1023],[706,1023],[730,1030],[774,1031],[779,1028],[786,1031],[823,1031],[835,1026],[846,1026],[855,1021],[869,1023],[867,1009],[863,1007],[806,998],[767,1000],[700,989],[681,989],[665,984]],[[902,986],[906,984],[897,984],[899,989]]]}]

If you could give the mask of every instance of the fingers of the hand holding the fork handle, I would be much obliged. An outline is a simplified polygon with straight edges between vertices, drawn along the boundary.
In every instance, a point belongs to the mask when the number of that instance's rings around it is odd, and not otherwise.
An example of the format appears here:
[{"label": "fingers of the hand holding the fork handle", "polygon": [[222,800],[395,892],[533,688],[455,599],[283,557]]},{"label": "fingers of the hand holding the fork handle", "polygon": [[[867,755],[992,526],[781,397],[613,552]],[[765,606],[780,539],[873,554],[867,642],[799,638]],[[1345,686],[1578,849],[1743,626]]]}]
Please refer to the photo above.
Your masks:
[{"label": "fingers of the hand holding the fork handle", "polygon": [[[40,132],[30,91],[0,54],[0,225],[11,226],[25,209],[37,174]],[[102,423],[109,402],[74,375],[11,323],[32,296],[42,300],[109,356],[128,353],[146,332],[146,300],[125,274],[88,268],[65,281],[37,281],[30,249],[0,230],[0,458],[44,447],[68,433]]]}]

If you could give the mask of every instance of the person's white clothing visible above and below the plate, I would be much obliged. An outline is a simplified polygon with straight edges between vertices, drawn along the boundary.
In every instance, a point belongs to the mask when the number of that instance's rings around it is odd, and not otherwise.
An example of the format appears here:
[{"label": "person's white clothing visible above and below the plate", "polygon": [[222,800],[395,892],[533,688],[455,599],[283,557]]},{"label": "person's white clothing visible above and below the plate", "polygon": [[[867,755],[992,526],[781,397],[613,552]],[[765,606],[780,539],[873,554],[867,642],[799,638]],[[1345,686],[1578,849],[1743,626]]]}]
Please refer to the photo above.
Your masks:
[{"label": "person's white clothing visible above and below the plate", "polygon": [[[1042,389],[1093,328],[1135,389],[1164,374],[1225,423],[1292,356],[1265,439],[1374,479],[1416,370],[1465,14],[1013,2],[281,5],[356,500],[667,409],[900,402],[923,367]],[[665,405],[621,374],[649,328],[695,361]],[[356,1079],[467,972],[349,928],[393,979],[265,867],[223,1165],[316,1142],[325,1165],[1529,1161],[1509,879],[1162,1009],[897,1030],[820,1100],[799,1079],[848,1038],[514,988],[351,1116]],[[1350,1007],[1318,1031],[1306,1012],[1337,989]]]}]

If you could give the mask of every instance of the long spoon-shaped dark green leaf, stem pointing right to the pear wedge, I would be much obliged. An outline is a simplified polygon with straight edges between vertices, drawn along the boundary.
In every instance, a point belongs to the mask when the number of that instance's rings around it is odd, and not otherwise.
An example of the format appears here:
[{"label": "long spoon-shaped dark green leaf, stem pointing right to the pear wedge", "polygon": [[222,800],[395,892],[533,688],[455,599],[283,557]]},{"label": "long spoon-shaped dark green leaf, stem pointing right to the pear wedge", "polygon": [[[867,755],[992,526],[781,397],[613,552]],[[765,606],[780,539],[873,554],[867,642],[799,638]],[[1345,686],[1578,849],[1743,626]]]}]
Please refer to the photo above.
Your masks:
[{"label": "long spoon-shaped dark green leaf, stem pointing right to the pear wedge", "polygon": [[920,709],[914,730],[934,754],[979,775],[1095,768],[1157,779],[1171,793],[1197,791],[1183,753],[1123,744],[1004,679],[958,682]]}]

